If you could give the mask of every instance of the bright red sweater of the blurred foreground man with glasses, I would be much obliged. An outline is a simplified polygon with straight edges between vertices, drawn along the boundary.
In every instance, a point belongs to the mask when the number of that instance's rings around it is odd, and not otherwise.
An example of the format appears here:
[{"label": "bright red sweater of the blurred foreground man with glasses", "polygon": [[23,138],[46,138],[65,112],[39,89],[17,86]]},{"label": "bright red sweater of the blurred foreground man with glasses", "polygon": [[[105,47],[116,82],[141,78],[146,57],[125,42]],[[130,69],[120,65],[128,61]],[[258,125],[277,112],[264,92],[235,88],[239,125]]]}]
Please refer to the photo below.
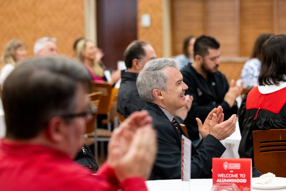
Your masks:
[{"label": "bright red sweater of the blurred foreground man with glasses", "polygon": [[59,150],[1,139],[0,190],[147,190],[140,177],[119,183],[107,163],[97,173]]}]

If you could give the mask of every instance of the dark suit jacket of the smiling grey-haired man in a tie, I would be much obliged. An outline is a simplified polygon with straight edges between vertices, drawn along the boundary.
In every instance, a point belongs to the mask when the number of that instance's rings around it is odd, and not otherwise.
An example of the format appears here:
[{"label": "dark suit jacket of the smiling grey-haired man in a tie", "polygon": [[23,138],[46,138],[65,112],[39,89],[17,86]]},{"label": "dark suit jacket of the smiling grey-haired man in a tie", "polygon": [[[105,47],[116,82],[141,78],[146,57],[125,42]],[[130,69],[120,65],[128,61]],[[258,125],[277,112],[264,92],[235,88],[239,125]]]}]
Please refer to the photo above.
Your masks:
[{"label": "dark suit jacket of the smiling grey-haired man in a tie", "polygon": [[[149,179],[180,179],[181,134],[158,105],[146,103],[143,110],[153,118],[158,141],[157,158]],[[180,125],[179,128],[184,134]],[[225,147],[212,135],[207,135],[196,148],[192,146],[191,178],[211,178],[212,157],[221,157],[224,151]]]}]

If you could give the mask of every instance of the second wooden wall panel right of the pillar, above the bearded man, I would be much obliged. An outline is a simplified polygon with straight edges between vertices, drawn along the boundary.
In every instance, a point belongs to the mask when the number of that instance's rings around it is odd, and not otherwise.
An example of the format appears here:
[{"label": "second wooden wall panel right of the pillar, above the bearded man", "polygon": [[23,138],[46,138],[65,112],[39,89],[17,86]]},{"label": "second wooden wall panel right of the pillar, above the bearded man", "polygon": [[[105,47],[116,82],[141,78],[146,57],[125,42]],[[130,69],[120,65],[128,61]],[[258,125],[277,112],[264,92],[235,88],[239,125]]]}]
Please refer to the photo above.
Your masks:
[{"label": "second wooden wall panel right of the pillar, above the bearded man", "polygon": [[221,56],[239,54],[239,0],[206,0],[206,34],[221,44]]}]

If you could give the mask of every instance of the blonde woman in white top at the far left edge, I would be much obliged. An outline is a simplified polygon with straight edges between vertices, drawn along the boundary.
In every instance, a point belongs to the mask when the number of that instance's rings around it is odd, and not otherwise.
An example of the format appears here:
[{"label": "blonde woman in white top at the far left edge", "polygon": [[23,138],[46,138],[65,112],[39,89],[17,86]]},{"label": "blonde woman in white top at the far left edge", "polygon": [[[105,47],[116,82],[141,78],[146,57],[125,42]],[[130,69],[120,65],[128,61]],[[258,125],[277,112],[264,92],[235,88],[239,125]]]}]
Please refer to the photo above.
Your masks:
[{"label": "blonde woman in white top at the far left edge", "polygon": [[16,62],[23,60],[27,55],[26,45],[17,39],[10,40],[3,49],[0,58],[1,73],[0,85],[3,87],[6,77],[14,70]]}]

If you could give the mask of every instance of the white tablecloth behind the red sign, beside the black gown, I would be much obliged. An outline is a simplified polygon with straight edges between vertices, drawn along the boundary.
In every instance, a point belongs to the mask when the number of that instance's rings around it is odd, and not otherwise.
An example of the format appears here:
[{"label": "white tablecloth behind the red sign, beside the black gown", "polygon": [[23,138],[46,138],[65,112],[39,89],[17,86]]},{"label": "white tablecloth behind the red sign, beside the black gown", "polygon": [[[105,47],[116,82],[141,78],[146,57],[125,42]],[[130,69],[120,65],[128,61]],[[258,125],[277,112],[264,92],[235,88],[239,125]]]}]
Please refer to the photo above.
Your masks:
[{"label": "white tablecloth behind the red sign, beside the black gown", "polygon": [[240,140],[241,135],[237,121],[235,132],[233,132],[233,134],[226,139],[221,140],[221,143],[227,148],[221,158],[239,158],[238,147]]}]

